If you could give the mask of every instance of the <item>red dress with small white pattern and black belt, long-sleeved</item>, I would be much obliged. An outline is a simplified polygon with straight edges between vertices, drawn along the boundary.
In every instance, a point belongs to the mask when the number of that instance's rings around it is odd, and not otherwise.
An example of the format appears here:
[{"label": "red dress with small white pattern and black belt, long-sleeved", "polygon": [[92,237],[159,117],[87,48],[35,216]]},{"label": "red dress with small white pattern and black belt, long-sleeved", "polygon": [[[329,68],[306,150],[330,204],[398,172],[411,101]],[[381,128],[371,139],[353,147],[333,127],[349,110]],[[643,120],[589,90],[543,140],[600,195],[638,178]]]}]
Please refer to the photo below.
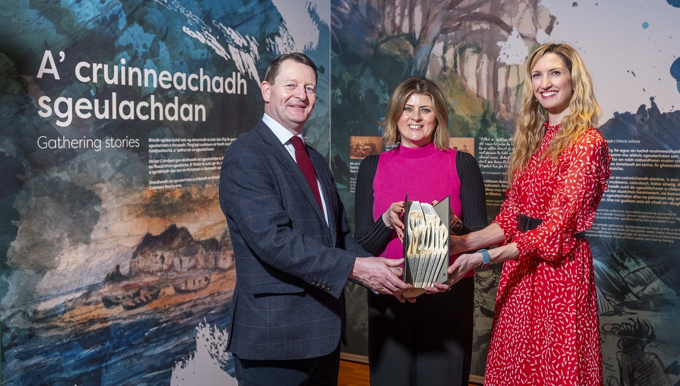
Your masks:
[{"label": "red dress with small white pattern and black belt, long-sleeved", "polygon": [[[545,124],[539,150],[517,177],[496,222],[520,256],[500,275],[484,386],[601,386],[602,347],[590,244],[611,175],[607,141],[590,128],[555,165],[539,162],[558,132]],[[543,219],[517,230],[517,215]]]}]

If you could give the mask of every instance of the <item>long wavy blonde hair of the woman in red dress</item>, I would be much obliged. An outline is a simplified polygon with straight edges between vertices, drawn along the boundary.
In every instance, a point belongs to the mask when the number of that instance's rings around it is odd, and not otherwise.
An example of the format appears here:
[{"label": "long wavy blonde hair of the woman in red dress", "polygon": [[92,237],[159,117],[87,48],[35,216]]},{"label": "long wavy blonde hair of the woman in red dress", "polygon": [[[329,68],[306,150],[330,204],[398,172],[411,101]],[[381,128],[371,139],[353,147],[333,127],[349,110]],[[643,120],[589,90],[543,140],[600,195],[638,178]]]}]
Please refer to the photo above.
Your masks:
[{"label": "long wavy blonde hair of the woman in red dress", "polygon": [[551,52],[560,56],[564,61],[566,69],[571,74],[574,93],[569,101],[571,113],[562,118],[560,130],[545,153],[541,154],[541,160],[549,156],[556,163],[560,152],[573,143],[579,135],[585,133],[590,127],[597,127],[602,113],[600,104],[595,99],[590,73],[585,69],[579,53],[564,43],[545,43],[537,48],[526,62],[522,109],[517,116],[517,130],[513,138],[514,149],[508,161],[507,177],[510,185],[518,173],[524,171],[545,135],[543,124],[547,122],[548,112],[534,96],[531,71],[539,59]]}]

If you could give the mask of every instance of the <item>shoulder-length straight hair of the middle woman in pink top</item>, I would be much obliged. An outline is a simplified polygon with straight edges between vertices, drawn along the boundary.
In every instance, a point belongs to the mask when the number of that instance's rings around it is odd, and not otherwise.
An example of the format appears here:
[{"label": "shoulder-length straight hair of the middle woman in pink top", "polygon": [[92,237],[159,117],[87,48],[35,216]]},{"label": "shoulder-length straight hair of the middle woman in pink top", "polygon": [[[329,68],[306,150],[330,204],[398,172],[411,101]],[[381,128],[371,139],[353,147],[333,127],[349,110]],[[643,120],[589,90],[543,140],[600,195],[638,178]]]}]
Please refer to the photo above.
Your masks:
[{"label": "shoulder-length straight hair of the middle woman in pink top", "polygon": [[439,150],[449,148],[449,110],[446,99],[439,87],[426,77],[409,77],[401,82],[390,96],[385,119],[380,122],[383,126],[383,142],[386,145],[394,145],[401,142],[401,134],[397,128],[397,122],[401,117],[406,101],[413,94],[424,94],[432,99],[432,109],[437,117],[437,127],[432,132],[432,142]]}]

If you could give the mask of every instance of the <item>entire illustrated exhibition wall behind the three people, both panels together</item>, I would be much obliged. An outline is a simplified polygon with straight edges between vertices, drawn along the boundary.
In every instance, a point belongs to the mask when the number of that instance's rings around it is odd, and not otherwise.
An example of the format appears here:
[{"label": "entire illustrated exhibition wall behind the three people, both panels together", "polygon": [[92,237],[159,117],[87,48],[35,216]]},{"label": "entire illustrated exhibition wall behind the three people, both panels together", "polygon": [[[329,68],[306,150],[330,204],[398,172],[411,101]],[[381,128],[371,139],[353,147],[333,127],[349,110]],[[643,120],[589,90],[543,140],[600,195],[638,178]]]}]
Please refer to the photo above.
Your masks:
[{"label": "entire illustrated exhibition wall behind the three people, both panels together", "polygon": [[[452,146],[477,158],[490,220],[523,63],[583,55],[613,176],[587,233],[607,385],[680,381],[677,0],[19,0],[0,10],[3,385],[236,385],[222,155],[262,116],[284,52],[319,67],[303,135],[354,218],[361,159],[409,75],[446,93]],[[500,265],[475,279],[483,376]],[[365,360],[365,289],[347,286]],[[479,379],[479,378],[476,378]]]}]

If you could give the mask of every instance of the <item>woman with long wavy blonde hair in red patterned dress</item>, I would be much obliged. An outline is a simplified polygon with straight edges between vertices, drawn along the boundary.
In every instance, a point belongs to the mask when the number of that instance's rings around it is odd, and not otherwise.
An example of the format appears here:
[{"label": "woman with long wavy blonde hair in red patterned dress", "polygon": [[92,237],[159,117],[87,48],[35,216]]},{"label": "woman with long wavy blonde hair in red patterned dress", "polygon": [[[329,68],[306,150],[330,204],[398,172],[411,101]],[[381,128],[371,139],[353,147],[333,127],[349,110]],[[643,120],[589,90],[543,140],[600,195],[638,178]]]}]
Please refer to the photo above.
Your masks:
[{"label": "woman with long wavy blonde hair in red patterned dress", "polygon": [[507,199],[490,226],[452,236],[452,252],[502,245],[462,255],[449,277],[455,283],[472,268],[505,262],[484,386],[601,386],[592,253],[583,239],[611,175],[607,141],[595,128],[600,106],[570,46],[543,44],[526,67]]}]

